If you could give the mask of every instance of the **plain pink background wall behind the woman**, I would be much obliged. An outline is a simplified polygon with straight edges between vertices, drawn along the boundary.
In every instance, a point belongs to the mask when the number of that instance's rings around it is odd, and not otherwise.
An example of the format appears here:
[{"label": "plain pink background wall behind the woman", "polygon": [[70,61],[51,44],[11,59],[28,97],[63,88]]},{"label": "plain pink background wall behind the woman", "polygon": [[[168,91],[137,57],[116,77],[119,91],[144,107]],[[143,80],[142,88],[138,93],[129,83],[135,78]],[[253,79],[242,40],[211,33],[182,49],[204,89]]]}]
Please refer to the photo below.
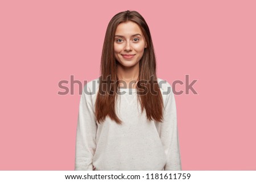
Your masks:
[{"label": "plain pink background wall behind the woman", "polygon": [[[106,27],[136,10],[176,95],[183,170],[256,170],[255,1],[1,1],[0,170],[73,170],[79,87],[100,75]],[[67,84],[69,86],[69,84]],[[177,87],[184,90],[184,86]]]}]

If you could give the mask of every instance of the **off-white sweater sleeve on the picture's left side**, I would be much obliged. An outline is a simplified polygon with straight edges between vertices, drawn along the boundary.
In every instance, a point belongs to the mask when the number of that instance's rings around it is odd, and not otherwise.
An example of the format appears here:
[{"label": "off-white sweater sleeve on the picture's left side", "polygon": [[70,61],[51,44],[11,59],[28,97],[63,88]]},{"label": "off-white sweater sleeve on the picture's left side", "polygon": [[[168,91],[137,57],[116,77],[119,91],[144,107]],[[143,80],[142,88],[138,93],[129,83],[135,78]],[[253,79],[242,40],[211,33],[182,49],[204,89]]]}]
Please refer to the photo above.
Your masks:
[{"label": "off-white sweater sleeve on the picture's left side", "polygon": [[[89,88],[84,87],[90,92]],[[76,131],[75,170],[93,170],[93,156],[96,150],[96,116],[92,95],[82,91]]]}]

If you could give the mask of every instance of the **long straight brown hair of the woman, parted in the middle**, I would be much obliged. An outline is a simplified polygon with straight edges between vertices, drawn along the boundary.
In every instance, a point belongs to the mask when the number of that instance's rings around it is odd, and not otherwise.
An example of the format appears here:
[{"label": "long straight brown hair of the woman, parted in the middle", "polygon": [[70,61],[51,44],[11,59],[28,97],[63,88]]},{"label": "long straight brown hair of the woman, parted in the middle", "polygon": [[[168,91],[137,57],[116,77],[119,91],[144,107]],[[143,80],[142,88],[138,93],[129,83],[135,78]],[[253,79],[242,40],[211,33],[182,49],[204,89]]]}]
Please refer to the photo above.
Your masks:
[{"label": "long straight brown hair of the woman, parted in the middle", "polygon": [[162,122],[163,98],[156,77],[156,59],[150,30],[141,14],[129,10],[119,12],[113,16],[106,29],[101,55],[100,85],[95,106],[97,121],[101,123],[106,116],[109,116],[118,124],[122,123],[115,113],[115,100],[119,82],[117,61],[114,56],[114,34],[118,24],[127,21],[135,22],[141,27],[147,43],[147,48],[144,49],[143,56],[139,61],[139,81],[137,83],[139,94],[137,99],[141,104],[142,113],[143,109],[146,110],[148,120]]}]

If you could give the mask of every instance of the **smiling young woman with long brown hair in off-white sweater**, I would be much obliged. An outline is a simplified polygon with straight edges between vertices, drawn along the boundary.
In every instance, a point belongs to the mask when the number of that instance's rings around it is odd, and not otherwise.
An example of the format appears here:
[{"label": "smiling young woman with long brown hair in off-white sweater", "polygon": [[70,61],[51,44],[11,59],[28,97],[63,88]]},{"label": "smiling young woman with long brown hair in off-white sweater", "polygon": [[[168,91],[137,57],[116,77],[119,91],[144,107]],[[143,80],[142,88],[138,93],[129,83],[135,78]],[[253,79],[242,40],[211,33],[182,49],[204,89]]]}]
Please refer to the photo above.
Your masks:
[{"label": "smiling young woman with long brown hair in off-white sweater", "polygon": [[75,170],[181,170],[174,94],[156,77],[150,30],[137,11],[109,22],[101,77],[80,99]]}]

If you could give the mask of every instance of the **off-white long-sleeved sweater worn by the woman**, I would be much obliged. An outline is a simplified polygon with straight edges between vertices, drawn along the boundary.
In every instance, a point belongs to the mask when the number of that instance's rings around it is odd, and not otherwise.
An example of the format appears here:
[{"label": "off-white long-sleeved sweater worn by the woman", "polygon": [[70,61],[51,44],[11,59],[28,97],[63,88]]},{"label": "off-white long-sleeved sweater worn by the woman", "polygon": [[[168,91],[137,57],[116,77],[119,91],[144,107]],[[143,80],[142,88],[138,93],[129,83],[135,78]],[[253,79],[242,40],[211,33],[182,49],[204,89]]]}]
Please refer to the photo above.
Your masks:
[{"label": "off-white long-sleeved sweater worn by the woman", "polygon": [[135,88],[121,88],[118,95],[118,125],[108,116],[96,123],[94,104],[99,78],[82,91],[77,121],[75,170],[181,170],[176,104],[171,85],[158,78],[164,101],[163,123],[148,121],[141,114]]}]

